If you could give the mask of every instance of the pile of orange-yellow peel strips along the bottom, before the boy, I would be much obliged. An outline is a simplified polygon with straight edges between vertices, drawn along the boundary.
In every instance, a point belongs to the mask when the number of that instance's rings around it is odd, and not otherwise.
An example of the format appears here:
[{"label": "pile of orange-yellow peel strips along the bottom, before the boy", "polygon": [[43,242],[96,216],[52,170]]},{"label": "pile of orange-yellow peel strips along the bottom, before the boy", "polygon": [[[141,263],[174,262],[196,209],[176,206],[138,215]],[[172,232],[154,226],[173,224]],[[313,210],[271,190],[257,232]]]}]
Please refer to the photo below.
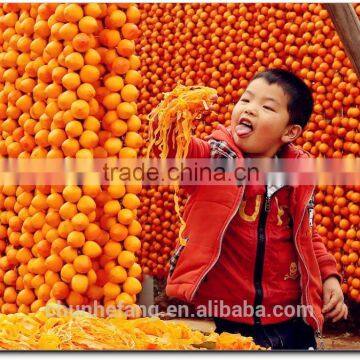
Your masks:
[{"label": "pile of orange-yellow peel strips along the bottom, before the boy", "polygon": [[204,335],[185,324],[158,318],[104,319],[83,311],[64,314],[64,309],[57,317],[60,305],[50,306],[28,315],[0,314],[0,349],[262,350],[251,338],[240,335]]}]

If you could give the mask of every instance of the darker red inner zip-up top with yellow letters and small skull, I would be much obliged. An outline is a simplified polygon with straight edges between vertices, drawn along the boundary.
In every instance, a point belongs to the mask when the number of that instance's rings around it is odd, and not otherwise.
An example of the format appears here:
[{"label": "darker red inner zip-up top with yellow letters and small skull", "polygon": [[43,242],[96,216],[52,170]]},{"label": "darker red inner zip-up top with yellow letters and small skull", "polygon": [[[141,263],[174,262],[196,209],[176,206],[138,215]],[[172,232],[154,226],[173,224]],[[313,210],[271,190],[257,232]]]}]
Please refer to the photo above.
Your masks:
[{"label": "darker red inner zip-up top with yellow letters and small skull", "polygon": [[301,315],[300,275],[288,211],[291,192],[290,186],[245,187],[219,260],[194,297],[196,307],[206,309],[208,317],[270,325]]}]

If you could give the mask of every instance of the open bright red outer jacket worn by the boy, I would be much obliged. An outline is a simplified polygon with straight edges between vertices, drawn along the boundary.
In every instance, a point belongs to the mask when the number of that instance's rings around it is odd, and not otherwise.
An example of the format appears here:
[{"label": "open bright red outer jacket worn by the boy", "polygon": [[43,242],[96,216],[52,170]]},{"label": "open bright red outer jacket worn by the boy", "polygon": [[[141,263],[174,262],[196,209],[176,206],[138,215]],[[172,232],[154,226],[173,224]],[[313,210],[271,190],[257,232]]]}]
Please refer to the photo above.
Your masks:
[{"label": "open bright red outer jacket worn by the boy", "polygon": [[[212,138],[225,142],[238,158],[243,157],[224,126],[219,125]],[[175,154],[171,144],[170,150],[169,158]],[[209,142],[192,138],[188,158],[210,158],[211,153]],[[288,144],[281,157],[307,158],[310,155],[301,148]],[[170,297],[191,303],[194,302],[206,275],[219,259],[224,234],[239,209],[244,186],[199,185],[189,187],[188,190],[190,197],[183,214],[187,244],[178,246],[175,250],[176,266],[168,276],[166,293]],[[314,186],[294,186],[289,210],[293,220],[293,237],[300,272],[301,303],[310,305],[313,309],[313,313],[307,313],[304,320],[314,330],[321,332],[324,322],[321,312],[322,283],[330,276],[340,276],[334,257],[327,252],[321,237],[312,227],[312,208],[309,204],[313,192]],[[266,231],[269,231],[268,228]],[[269,267],[264,271],[273,270]]]}]

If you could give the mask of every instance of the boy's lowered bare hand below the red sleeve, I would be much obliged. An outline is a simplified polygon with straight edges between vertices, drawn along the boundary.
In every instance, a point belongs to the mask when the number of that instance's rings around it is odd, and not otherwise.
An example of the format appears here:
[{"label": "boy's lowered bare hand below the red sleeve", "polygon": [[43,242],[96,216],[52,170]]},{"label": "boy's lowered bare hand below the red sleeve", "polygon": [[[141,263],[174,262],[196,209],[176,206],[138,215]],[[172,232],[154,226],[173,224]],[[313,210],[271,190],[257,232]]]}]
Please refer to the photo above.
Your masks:
[{"label": "boy's lowered bare hand below the red sleeve", "polygon": [[324,306],[322,309],[325,318],[332,322],[347,319],[348,308],[344,304],[344,294],[341,290],[339,280],[331,276],[324,281]]}]

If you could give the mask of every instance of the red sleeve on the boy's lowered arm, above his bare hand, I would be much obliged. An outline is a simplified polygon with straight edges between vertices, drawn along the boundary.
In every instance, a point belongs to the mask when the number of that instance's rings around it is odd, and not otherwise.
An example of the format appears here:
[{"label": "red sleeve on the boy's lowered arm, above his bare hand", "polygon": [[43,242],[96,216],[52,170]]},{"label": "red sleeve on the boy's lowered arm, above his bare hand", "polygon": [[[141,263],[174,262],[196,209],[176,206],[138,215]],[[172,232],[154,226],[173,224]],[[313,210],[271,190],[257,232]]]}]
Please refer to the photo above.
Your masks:
[{"label": "red sleeve on the boy's lowered arm, above his bare hand", "polygon": [[319,264],[322,281],[324,282],[330,276],[335,276],[341,283],[342,278],[336,269],[336,260],[334,256],[327,251],[321,236],[315,229],[313,230],[313,248]]}]

